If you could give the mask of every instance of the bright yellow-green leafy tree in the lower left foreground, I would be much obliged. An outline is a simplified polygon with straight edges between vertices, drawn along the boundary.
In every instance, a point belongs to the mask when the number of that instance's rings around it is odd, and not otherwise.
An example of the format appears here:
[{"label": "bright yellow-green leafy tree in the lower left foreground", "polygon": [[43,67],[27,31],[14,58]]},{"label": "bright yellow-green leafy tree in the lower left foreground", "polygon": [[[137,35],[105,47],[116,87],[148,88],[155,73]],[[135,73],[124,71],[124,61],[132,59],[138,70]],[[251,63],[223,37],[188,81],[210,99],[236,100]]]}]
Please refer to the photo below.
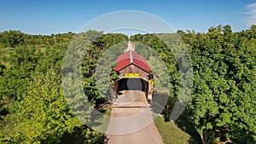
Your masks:
[{"label": "bright yellow-green leafy tree in the lower left foreground", "polygon": [[12,127],[4,128],[3,141],[10,143],[54,143],[81,125],[67,105],[54,69],[46,74],[34,72],[26,96],[9,121]]}]

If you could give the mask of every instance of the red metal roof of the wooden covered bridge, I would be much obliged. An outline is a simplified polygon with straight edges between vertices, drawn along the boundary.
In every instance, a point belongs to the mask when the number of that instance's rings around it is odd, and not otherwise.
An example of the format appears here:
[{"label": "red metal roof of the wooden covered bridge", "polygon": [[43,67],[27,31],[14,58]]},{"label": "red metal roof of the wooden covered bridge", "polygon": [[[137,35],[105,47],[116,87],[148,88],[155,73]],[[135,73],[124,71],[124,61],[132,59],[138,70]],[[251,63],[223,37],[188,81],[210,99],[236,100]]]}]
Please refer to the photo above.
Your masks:
[{"label": "red metal roof of the wooden covered bridge", "polygon": [[117,66],[114,67],[114,71],[118,72],[131,64],[142,68],[146,72],[150,72],[150,66],[142,55],[138,55],[134,51],[127,51],[116,59]]}]

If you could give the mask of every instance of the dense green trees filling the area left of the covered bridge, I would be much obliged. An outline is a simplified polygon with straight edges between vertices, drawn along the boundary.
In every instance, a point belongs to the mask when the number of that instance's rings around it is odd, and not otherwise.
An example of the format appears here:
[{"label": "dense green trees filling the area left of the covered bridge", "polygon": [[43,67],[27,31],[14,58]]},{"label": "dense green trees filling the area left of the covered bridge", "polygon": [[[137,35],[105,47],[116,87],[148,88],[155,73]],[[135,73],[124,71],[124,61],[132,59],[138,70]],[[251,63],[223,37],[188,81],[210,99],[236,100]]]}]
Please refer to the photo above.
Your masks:
[{"label": "dense green trees filling the area left of the covered bridge", "polygon": [[81,84],[96,107],[104,102],[95,92],[97,59],[112,45],[128,41],[128,37],[95,31],[51,36],[9,31],[0,33],[0,37],[0,143],[64,144],[68,138],[73,143],[102,143],[103,134],[79,121],[68,105],[61,84],[63,56],[67,46],[73,46],[73,37],[91,41],[83,55]]}]

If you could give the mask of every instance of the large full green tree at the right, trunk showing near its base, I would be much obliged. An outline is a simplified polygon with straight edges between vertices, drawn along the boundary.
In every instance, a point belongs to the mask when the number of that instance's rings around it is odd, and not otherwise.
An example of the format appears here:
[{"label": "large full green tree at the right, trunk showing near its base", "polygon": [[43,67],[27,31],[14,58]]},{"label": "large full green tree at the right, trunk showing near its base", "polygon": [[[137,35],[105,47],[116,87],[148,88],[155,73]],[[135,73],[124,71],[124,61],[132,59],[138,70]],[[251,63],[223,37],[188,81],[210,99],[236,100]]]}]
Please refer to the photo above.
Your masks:
[{"label": "large full green tree at the right, trunk showing near its base", "polygon": [[[252,42],[247,41],[246,47],[237,44],[245,37],[231,33],[230,26],[224,26],[223,30],[220,26],[212,27],[197,39],[198,43],[191,45],[195,80],[189,115],[203,143],[210,143],[217,137],[233,143],[254,143],[255,112],[242,108],[250,106],[246,101],[251,101],[250,107],[255,107]],[[238,138],[238,135],[241,136]]]}]

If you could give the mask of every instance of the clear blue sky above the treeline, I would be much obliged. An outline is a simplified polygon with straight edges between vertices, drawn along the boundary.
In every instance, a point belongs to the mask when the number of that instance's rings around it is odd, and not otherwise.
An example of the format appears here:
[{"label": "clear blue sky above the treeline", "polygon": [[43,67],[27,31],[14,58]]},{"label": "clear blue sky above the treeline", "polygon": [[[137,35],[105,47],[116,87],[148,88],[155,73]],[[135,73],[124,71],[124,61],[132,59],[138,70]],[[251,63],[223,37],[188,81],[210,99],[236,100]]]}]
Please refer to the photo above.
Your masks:
[{"label": "clear blue sky above the treeline", "polygon": [[120,10],[154,14],[183,31],[207,32],[211,26],[230,25],[237,32],[256,24],[255,0],[6,0],[0,1],[0,32],[77,32],[90,20]]}]

